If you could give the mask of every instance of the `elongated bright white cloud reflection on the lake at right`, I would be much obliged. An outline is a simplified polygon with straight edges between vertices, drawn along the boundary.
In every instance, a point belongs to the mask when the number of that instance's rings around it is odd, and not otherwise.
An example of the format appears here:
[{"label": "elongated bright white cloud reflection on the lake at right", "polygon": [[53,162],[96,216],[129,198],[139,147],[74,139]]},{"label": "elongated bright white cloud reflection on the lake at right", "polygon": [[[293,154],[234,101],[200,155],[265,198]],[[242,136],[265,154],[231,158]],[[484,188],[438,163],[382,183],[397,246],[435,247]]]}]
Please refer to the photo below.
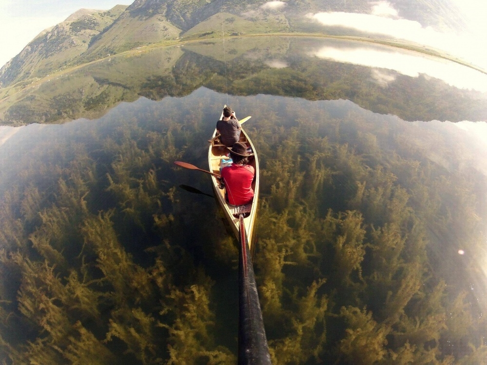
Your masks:
[{"label": "elongated bright white cloud reflection on the lake at right", "polygon": [[[392,70],[411,77],[418,77],[420,74],[429,75],[459,89],[487,92],[486,74],[454,62],[417,53],[365,46],[357,48],[326,46],[311,52],[311,55],[338,62]],[[378,77],[380,79],[381,76]],[[382,80],[387,78],[382,77]]]}]

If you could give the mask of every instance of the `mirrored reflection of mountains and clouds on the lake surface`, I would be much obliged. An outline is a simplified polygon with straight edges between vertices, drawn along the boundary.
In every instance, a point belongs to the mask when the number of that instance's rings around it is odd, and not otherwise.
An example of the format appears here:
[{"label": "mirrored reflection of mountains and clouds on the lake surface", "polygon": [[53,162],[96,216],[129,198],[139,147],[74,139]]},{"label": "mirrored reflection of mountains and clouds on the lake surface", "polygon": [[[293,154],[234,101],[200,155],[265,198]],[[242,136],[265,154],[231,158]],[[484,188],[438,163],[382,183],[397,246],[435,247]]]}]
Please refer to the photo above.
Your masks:
[{"label": "mirrored reflection of mountains and clouds on the lake surface", "polygon": [[[224,53],[225,49],[225,53]],[[410,51],[318,37],[243,37],[137,51],[52,75],[0,103],[3,124],[98,118],[140,96],[200,87],[232,95],[351,100],[404,120],[487,121],[487,75]]]}]

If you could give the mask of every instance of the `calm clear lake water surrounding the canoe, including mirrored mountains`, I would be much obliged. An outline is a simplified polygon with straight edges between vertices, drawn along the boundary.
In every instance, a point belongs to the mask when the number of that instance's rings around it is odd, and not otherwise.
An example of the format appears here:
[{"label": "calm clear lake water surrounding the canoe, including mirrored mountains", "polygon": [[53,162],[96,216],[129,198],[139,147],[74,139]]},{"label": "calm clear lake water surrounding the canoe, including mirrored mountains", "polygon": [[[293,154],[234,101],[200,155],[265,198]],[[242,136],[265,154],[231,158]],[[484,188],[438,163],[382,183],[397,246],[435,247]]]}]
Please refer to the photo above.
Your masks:
[{"label": "calm clear lake water surrounding the canoe, including mirrored mountains", "polygon": [[0,104],[0,359],[236,363],[236,241],[208,176],[173,164],[206,169],[227,104],[261,164],[275,364],[487,361],[487,76],[323,38],[223,48],[112,57]]}]

